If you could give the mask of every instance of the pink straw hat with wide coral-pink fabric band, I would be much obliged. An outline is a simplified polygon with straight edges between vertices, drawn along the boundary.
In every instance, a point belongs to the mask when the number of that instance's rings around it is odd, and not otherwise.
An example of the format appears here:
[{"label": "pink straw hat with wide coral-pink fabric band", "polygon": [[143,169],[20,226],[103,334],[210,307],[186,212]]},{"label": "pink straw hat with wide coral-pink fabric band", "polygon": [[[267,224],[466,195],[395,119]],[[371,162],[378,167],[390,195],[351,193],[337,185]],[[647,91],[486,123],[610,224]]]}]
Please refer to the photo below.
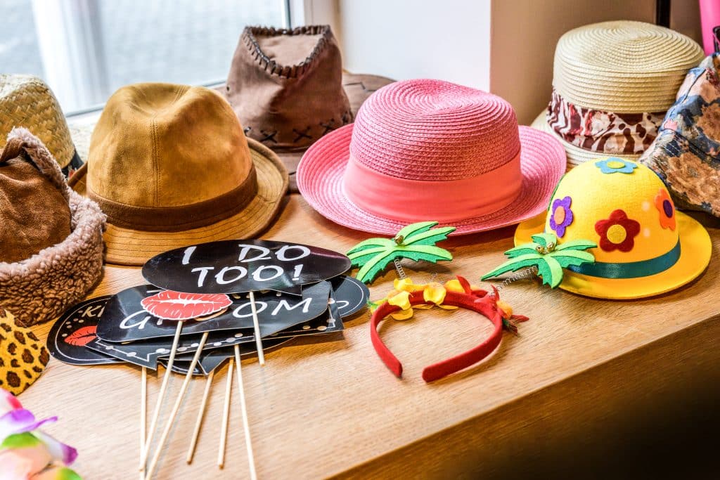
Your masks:
[{"label": "pink straw hat with wide coral-pink fabric band", "polygon": [[355,230],[392,235],[434,220],[458,235],[544,212],[565,162],[562,145],[518,127],[499,96],[409,80],[379,89],[354,124],[315,142],[297,186],[320,214]]}]

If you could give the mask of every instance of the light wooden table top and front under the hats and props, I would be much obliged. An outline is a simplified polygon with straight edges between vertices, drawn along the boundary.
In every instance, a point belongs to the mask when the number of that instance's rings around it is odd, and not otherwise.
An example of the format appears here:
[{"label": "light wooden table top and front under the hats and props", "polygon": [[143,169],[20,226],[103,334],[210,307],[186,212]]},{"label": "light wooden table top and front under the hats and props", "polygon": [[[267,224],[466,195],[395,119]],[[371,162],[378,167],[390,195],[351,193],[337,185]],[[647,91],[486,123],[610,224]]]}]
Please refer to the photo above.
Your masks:
[{"label": "light wooden table top and front under the hats and props", "polygon": [[[408,263],[410,276],[427,281],[432,273],[438,279],[461,274],[477,282],[503,261],[512,232],[449,240],[444,246],[454,261]],[[328,222],[292,195],[263,237],[343,252],[369,236]],[[720,233],[711,230],[711,237],[716,257]],[[622,426],[629,418],[658,409],[662,415],[720,383],[719,270],[715,258],[693,284],[635,302],[586,299],[518,281],[502,296],[516,313],[531,317],[520,335],[505,332],[494,356],[435,384],[420,379],[422,368],[477,345],[490,332],[484,317],[433,309],[410,322],[385,322],[383,338],[405,366],[402,380],[374,353],[367,313],[346,322],[341,335],[294,340],[268,353],[264,367],[254,358],[243,361],[258,476],[491,478],[527,474],[542,463],[538,459],[558,458],[560,449],[595,448],[627,433]],[[390,271],[376,281],[372,297],[384,296],[394,276]],[[137,268],[107,266],[89,296],[142,282]],[[215,466],[226,368],[215,376],[194,463],[184,458],[200,379],[192,381],[156,478],[246,478],[236,391],[225,469]],[[180,384],[175,376],[168,398]],[[159,378],[150,379],[150,411],[159,385]],[[60,416],[48,430],[78,448],[76,469],[86,479],[138,478],[138,368],[84,368],[53,359],[21,398],[37,415]]]}]

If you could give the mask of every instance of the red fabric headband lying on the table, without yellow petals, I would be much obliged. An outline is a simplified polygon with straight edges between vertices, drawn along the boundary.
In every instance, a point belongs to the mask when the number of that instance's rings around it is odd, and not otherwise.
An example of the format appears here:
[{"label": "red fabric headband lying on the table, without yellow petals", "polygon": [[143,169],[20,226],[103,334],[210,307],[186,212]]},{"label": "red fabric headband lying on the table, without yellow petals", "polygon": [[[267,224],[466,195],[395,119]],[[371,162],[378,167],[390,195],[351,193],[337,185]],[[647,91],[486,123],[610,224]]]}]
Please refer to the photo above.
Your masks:
[{"label": "red fabric headband lying on the table, without yellow petals", "polygon": [[[458,356],[434,363],[433,365],[423,369],[423,380],[426,382],[442,379],[451,373],[455,373],[456,371],[467,368],[474,363],[478,363],[483,358],[490,355],[490,353],[495,351],[495,348],[498,348],[500,340],[503,338],[503,327],[513,330],[513,332],[516,331],[516,327],[511,320],[517,320],[518,322],[528,320],[527,317],[523,317],[521,315],[511,315],[503,312],[503,309],[498,307],[497,302],[500,299],[500,296],[498,295],[497,290],[495,290],[495,296],[488,295],[485,290],[471,290],[467,281],[462,279],[462,277],[458,277],[458,280],[465,289],[465,292],[459,293],[456,291],[447,291],[443,304],[450,305],[451,307],[466,308],[472,310],[473,312],[485,315],[485,317],[487,317],[488,320],[495,325],[495,329],[492,330],[490,337],[488,337],[480,345],[477,345],[477,347],[471,348],[470,350],[467,350],[467,352],[461,353]],[[428,301],[423,296],[423,291],[412,292],[409,300],[411,305],[428,304]],[[391,305],[388,302],[383,302],[383,304],[381,304],[377,310],[373,312],[370,320],[370,339],[372,340],[372,345],[375,348],[375,351],[385,363],[387,368],[390,368],[390,371],[395,373],[397,378],[400,378],[402,376],[402,363],[400,363],[400,361],[397,360],[397,357],[395,357],[385,344],[382,343],[382,340],[377,332],[377,326],[384,317],[387,317],[387,315],[392,312],[397,312],[398,310],[400,310],[400,307]]]}]

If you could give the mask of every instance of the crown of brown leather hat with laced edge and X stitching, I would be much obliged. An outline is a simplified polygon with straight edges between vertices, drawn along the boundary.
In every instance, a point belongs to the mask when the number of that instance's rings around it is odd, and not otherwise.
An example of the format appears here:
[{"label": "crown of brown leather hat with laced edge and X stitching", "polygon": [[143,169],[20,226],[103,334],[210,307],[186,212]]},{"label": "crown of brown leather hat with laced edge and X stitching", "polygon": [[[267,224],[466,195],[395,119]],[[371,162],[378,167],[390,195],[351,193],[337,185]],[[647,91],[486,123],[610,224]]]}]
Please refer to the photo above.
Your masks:
[{"label": "crown of brown leather hat with laced edge and X stitching", "polygon": [[353,121],[328,25],[246,27],[224,94],[246,135],[273,150],[304,150]]}]

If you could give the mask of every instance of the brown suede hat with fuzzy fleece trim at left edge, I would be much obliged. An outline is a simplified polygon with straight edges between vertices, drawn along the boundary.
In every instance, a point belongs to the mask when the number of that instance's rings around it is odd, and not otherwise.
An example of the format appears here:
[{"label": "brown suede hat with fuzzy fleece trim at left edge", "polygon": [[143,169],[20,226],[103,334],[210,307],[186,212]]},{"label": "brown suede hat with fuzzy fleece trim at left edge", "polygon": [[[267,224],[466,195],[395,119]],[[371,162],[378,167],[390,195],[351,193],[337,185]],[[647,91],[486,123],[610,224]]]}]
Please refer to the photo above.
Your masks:
[{"label": "brown suede hat with fuzzy fleece trim at left edge", "polygon": [[28,327],[85,296],[102,274],[104,225],[40,139],[12,130],[0,153],[0,314]]}]

